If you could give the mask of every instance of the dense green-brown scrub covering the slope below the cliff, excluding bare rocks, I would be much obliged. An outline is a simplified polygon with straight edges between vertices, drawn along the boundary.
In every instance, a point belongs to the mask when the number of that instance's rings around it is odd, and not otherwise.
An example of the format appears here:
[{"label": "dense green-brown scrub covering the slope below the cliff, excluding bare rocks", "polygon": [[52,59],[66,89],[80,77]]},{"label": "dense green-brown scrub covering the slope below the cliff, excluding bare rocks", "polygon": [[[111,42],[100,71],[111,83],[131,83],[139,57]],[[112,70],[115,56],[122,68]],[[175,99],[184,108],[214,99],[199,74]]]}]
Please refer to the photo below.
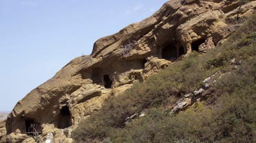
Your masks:
[{"label": "dense green-brown scrub covering the slope below the cliff, excluding bare rocks", "polygon": [[[256,142],[255,23],[256,15],[220,47],[192,53],[108,99],[72,137],[76,142]],[[232,59],[240,65],[235,67]],[[227,74],[215,83],[211,98],[177,115],[166,112],[216,71]],[[143,109],[149,109],[147,116],[125,125],[127,117]]]}]

